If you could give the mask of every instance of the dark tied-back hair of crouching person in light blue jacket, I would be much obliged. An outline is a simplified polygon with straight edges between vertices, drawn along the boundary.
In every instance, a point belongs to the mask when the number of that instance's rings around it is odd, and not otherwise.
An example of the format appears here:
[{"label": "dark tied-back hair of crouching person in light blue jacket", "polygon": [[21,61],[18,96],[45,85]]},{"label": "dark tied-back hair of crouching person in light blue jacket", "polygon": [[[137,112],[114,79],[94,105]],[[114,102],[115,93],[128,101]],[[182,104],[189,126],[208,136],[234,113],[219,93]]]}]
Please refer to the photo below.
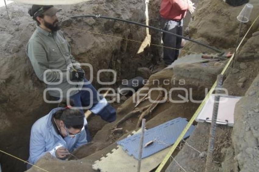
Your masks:
[{"label": "dark tied-back hair of crouching person in light blue jacket", "polygon": [[[69,100],[70,106],[74,106],[74,101]],[[58,110],[54,114],[54,118],[58,120],[62,120],[67,128],[75,128],[82,129],[83,128],[83,117],[84,114],[81,113],[80,110],[77,109],[69,109],[67,107],[67,100],[63,99],[62,102],[59,103],[58,107],[66,108]]]}]

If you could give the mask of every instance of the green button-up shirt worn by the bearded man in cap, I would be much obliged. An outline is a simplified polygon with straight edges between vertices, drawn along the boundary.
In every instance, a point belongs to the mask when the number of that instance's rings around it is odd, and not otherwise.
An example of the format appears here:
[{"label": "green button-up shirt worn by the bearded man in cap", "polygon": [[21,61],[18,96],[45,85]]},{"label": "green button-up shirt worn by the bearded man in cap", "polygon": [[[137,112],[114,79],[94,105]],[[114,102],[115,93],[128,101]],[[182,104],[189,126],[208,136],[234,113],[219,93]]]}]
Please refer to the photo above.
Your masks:
[{"label": "green button-up shirt worn by the bearded man in cap", "polygon": [[[69,96],[71,96],[82,88],[82,85],[69,84],[67,81],[67,70],[72,66],[71,63],[74,66],[80,66],[80,64],[71,55],[70,46],[61,30],[48,32],[37,26],[26,46],[26,52],[37,77],[41,81],[45,80],[45,83],[48,82],[46,84],[51,96],[67,97],[68,89],[76,88],[70,92]],[[46,71],[45,79],[44,71]],[[61,83],[57,84],[60,81]]]}]

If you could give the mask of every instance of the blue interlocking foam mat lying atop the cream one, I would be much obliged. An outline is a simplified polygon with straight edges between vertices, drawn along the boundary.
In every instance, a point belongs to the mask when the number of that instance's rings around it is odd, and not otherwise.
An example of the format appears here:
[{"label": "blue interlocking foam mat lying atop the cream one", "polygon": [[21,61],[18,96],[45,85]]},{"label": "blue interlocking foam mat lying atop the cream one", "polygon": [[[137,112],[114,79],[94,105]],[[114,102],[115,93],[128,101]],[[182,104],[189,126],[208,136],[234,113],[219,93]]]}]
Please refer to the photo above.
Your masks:
[{"label": "blue interlocking foam mat lying atop the cream one", "polygon": [[[143,145],[146,145],[150,141],[154,142],[153,144],[143,148],[142,158],[148,157],[174,144],[187,123],[188,122],[185,118],[179,117],[157,127],[146,130],[144,133]],[[184,138],[190,136],[194,129],[195,127],[192,125],[184,135]],[[123,150],[127,151],[130,156],[133,155],[136,159],[138,159],[139,142],[140,133],[127,137],[117,143],[118,145],[121,145]]]}]

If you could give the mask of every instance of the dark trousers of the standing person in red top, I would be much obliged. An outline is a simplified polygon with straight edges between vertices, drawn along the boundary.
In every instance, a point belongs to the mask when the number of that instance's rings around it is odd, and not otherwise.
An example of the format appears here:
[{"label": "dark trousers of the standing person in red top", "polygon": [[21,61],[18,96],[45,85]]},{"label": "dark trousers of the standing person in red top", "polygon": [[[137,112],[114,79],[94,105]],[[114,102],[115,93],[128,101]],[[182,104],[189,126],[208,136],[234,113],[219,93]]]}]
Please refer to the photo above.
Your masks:
[{"label": "dark trousers of the standing person in red top", "polygon": [[[180,21],[174,21],[174,20],[168,20],[161,17],[161,27],[162,30],[169,31],[174,34],[183,35],[183,20]],[[181,47],[182,38],[176,37],[171,34],[163,33],[162,34],[162,40],[164,43],[164,62],[166,65],[172,64],[179,56],[179,50],[172,49],[177,48],[179,49]],[[170,47],[170,48],[166,48]]]}]

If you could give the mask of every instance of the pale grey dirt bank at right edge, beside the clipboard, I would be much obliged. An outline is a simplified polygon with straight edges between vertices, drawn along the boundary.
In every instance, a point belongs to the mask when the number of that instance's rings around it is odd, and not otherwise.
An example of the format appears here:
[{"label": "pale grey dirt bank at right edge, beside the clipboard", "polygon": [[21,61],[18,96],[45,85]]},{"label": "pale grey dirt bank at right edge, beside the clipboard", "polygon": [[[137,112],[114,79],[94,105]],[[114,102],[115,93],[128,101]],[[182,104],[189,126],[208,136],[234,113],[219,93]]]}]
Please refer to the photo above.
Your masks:
[{"label": "pale grey dirt bank at right edge, beside the clipboard", "polygon": [[259,164],[259,75],[236,104],[232,139],[240,171],[257,171]]}]

